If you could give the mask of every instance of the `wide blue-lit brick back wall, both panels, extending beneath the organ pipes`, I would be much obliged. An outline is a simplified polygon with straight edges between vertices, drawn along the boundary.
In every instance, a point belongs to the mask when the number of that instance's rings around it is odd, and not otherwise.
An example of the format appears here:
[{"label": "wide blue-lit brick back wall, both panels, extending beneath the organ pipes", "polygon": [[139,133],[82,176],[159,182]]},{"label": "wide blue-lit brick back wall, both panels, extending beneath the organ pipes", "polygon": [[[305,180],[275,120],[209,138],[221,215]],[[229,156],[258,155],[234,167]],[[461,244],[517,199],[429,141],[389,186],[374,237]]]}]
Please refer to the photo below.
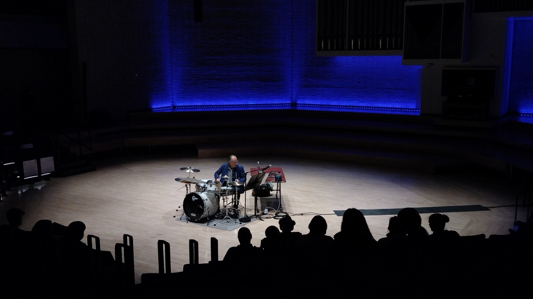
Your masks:
[{"label": "wide blue-lit brick back wall, both panels, extending beneath the organ pipes", "polygon": [[[173,103],[416,108],[419,66],[401,56],[317,57],[314,1],[171,3]],[[386,78],[385,80],[383,78]]]}]

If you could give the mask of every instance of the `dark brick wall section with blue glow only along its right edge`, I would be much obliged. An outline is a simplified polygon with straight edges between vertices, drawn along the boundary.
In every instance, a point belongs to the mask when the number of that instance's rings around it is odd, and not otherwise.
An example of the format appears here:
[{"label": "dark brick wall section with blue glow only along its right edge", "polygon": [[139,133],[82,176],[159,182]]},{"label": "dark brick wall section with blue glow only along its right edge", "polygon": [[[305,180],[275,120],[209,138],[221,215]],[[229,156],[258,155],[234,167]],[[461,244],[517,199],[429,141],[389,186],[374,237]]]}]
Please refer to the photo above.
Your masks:
[{"label": "dark brick wall section with blue glow only along its right edge", "polygon": [[89,118],[120,120],[170,103],[166,0],[76,1],[75,20]]}]

